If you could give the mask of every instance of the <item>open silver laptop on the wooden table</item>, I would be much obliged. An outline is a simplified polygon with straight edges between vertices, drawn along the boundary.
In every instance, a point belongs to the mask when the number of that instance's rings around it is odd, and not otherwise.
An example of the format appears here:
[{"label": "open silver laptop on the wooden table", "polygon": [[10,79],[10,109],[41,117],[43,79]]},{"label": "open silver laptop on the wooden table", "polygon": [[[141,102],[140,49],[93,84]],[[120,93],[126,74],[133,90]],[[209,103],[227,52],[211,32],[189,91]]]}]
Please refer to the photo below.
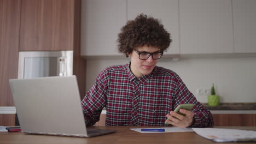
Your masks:
[{"label": "open silver laptop on the wooden table", "polygon": [[75,76],[9,82],[24,133],[92,137],[116,131],[86,129]]}]

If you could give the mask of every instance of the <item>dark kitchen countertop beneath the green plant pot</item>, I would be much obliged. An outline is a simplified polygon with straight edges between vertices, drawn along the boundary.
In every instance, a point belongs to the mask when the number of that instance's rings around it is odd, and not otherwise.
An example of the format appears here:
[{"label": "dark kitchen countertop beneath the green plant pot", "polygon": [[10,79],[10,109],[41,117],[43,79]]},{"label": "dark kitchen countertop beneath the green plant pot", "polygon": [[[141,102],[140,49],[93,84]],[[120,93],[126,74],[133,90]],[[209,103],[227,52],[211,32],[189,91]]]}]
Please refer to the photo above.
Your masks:
[{"label": "dark kitchen countertop beneath the green plant pot", "polygon": [[202,104],[209,110],[256,110],[256,103],[220,103],[218,106]]}]

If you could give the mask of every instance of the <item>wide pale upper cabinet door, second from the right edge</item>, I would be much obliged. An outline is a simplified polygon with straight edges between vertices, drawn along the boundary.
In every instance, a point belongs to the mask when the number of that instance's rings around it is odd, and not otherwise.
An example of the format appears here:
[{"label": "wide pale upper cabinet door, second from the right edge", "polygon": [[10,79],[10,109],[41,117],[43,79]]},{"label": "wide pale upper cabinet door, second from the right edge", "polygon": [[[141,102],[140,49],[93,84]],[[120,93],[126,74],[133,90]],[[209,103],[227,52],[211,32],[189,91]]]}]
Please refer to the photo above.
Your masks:
[{"label": "wide pale upper cabinet door, second from the right edge", "polygon": [[180,0],[181,54],[233,53],[231,0]]}]

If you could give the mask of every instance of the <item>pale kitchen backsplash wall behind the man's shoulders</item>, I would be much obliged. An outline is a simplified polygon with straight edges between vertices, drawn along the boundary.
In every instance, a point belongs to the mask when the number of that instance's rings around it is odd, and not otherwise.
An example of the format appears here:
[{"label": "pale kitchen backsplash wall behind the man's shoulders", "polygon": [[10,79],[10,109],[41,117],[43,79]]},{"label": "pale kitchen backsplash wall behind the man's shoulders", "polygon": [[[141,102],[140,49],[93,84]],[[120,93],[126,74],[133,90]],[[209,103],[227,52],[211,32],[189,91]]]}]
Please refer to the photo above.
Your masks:
[{"label": "pale kitchen backsplash wall behind the man's shoulders", "polygon": [[[130,59],[97,59],[87,61],[86,92],[98,73],[109,65],[128,63]],[[175,71],[201,103],[206,95],[197,89],[210,89],[212,83],[220,95],[220,103],[256,102],[256,57],[181,58],[178,62],[160,59],[159,66]]]}]

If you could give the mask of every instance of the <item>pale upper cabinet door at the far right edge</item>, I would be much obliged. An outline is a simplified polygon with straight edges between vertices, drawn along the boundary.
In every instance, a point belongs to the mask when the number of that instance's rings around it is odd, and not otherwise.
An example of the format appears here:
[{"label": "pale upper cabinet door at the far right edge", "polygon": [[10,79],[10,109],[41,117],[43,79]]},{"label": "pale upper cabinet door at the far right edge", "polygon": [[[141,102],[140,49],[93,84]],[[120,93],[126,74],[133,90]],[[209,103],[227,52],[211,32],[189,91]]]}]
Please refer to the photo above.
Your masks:
[{"label": "pale upper cabinet door at the far right edge", "polygon": [[235,52],[256,52],[256,1],[233,0],[232,6]]}]

